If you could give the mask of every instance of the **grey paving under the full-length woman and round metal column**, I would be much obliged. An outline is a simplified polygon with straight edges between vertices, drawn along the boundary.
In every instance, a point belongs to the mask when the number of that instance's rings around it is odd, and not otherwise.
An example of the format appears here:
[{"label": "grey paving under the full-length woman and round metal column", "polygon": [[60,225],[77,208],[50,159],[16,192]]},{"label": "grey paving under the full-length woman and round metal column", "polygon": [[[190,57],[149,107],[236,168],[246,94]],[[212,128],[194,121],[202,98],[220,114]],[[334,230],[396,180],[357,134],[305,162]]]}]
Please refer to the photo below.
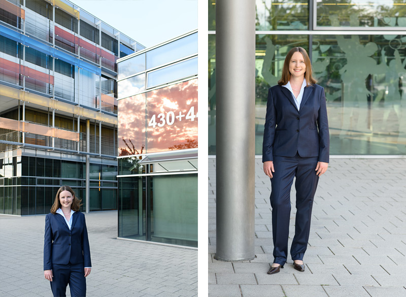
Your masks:
[{"label": "grey paving under the full-length woman and round metal column", "polygon": [[[406,159],[331,160],[315,196],[304,272],[288,259],[280,273],[266,274],[273,262],[270,181],[260,159],[255,178],[256,258],[217,261],[215,159],[209,159],[209,296],[406,296]],[[292,189],[290,240],[294,200]]]}]

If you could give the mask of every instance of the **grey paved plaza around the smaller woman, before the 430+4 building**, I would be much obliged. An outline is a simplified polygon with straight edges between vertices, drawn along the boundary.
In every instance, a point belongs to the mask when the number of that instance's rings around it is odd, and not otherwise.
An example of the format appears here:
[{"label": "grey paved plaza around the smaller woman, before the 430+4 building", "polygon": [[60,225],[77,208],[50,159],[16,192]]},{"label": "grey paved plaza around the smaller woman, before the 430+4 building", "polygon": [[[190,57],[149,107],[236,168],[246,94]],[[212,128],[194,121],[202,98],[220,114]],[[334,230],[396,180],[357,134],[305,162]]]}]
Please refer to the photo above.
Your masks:
[{"label": "grey paved plaza around the smaller woman, before the 430+4 building", "polygon": [[[116,211],[86,214],[86,223],[88,297],[197,296],[197,250],[117,240]],[[45,215],[0,215],[0,296],[52,296],[43,272],[44,226]]]}]

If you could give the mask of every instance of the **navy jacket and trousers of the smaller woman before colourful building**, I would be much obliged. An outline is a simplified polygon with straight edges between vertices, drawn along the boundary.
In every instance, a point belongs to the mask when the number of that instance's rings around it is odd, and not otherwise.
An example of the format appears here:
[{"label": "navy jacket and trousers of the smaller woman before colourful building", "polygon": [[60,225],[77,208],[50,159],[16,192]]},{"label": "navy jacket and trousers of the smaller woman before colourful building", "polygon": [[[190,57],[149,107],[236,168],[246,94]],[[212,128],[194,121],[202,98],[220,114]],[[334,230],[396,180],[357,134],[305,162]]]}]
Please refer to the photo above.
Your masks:
[{"label": "navy jacket and trousers of the smaller woman before colourful building", "polygon": [[50,282],[54,296],[66,296],[69,284],[72,297],[86,296],[85,267],[91,267],[85,215],[72,214],[72,227],[58,213],[45,217],[44,270],[52,270]]}]

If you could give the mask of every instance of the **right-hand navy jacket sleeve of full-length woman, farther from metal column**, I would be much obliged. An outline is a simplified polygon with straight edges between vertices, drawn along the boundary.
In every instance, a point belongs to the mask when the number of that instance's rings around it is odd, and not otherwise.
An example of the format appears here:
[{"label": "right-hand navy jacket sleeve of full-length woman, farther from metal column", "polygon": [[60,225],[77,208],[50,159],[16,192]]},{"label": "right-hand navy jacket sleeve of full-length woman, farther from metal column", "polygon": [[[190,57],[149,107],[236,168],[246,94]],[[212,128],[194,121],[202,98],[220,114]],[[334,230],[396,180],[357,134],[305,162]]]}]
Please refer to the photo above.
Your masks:
[{"label": "right-hand navy jacket sleeve of full-length woman, farther from metal column", "polygon": [[330,134],[328,131],[326,95],[324,88],[320,95],[320,109],[317,118],[317,126],[319,129],[319,162],[329,162],[330,156]]}]

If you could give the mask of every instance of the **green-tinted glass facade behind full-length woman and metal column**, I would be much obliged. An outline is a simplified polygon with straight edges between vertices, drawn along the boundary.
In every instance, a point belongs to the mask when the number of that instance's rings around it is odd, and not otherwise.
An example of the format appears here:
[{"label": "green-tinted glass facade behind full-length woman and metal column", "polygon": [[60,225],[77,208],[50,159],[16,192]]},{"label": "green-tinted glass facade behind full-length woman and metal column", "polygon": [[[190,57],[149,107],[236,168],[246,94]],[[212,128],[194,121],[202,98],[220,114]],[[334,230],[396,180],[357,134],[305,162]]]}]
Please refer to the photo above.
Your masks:
[{"label": "green-tinted glass facade behind full-length woman and metal column", "polygon": [[[215,8],[209,1],[209,154],[216,153]],[[257,155],[267,90],[295,46],[308,51],[326,92],[330,154],[406,154],[404,1],[257,0],[256,12]]]}]

